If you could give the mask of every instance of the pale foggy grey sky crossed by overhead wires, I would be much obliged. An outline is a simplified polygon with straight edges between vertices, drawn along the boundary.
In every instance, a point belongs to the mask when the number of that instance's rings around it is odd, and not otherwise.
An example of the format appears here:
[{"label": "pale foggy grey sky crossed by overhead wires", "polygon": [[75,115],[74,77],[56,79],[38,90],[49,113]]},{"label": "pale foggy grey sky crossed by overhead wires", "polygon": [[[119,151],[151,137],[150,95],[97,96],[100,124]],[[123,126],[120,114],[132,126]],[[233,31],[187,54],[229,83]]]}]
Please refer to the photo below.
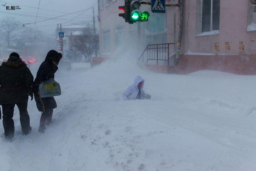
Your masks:
[{"label": "pale foggy grey sky crossed by overhead wires", "polygon": [[[20,9],[6,10],[6,6],[9,6],[9,9],[11,9],[11,6],[19,6]],[[25,24],[25,27],[32,27],[39,31],[43,31],[46,34],[52,34],[54,33],[57,24],[60,23],[62,26],[65,26],[72,23],[90,21],[90,24],[93,25],[93,7],[97,26],[97,0],[0,1],[0,19],[6,16],[15,17],[15,20]]]}]

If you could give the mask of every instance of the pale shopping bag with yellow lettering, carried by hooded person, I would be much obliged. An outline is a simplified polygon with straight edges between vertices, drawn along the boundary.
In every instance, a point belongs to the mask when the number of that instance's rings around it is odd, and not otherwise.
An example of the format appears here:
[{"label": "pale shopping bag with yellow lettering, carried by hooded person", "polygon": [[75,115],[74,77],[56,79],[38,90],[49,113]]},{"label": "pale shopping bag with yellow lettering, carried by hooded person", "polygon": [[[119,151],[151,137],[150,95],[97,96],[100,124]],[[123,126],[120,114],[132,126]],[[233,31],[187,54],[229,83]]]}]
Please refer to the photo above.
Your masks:
[{"label": "pale shopping bag with yellow lettering, carried by hooded person", "polygon": [[54,79],[42,81],[39,85],[40,97],[52,97],[61,95],[60,85]]}]

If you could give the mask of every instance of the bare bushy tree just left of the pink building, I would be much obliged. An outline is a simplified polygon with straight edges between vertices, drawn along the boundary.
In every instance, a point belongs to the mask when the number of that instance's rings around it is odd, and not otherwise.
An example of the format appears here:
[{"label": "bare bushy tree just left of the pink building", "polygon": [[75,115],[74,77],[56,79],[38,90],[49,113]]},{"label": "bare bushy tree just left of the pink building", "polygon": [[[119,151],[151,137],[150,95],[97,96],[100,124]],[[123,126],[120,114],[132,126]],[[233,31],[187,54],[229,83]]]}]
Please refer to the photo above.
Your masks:
[{"label": "bare bushy tree just left of the pink building", "polygon": [[90,27],[86,27],[83,29],[82,35],[78,35],[73,39],[73,46],[78,51],[80,51],[87,62],[91,61],[91,56],[94,52],[95,45],[98,44],[98,39],[96,39],[96,35],[94,31]]}]

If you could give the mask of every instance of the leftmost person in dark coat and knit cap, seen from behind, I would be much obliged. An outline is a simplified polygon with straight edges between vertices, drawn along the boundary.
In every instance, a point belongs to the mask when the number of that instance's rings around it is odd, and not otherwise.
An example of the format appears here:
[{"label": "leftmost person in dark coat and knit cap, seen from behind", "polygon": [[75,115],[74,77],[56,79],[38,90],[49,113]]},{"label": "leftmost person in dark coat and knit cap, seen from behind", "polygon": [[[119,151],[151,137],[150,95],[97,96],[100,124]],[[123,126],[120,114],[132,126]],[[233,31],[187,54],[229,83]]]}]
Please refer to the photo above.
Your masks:
[{"label": "leftmost person in dark coat and knit cap, seen from behind", "polygon": [[34,77],[22,61],[19,54],[13,52],[6,62],[0,66],[0,104],[3,111],[3,128],[6,139],[14,137],[14,106],[19,109],[22,133],[27,135],[31,131],[30,118],[27,111],[28,96],[33,100]]}]

